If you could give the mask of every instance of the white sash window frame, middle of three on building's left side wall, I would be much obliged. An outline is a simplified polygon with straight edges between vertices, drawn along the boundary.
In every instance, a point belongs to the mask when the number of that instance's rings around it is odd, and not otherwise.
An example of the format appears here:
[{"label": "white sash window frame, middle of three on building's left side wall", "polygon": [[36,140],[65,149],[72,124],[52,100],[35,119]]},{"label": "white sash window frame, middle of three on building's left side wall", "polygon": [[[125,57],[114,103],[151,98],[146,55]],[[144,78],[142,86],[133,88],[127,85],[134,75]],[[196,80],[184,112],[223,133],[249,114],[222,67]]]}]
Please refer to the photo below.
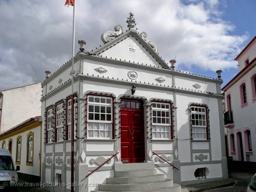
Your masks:
[{"label": "white sash window frame, middle of three on building's left side wall", "polygon": [[63,140],[63,126],[64,126],[64,107],[63,103],[56,106],[56,131],[57,142]]}]

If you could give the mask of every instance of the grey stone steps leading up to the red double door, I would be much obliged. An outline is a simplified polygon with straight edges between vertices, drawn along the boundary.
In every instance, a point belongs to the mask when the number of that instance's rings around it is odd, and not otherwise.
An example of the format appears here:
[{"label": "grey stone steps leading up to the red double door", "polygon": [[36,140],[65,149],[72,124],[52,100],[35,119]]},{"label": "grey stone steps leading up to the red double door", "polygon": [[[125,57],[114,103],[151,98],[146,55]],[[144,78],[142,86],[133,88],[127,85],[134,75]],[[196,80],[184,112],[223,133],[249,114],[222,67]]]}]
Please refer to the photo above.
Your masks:
[{"label": "grey stone steps leading up to the red double door", "polygon": [[116,163],[114,177],[91,192],[181,192],[181,186],[157,174],[154,162]]}]

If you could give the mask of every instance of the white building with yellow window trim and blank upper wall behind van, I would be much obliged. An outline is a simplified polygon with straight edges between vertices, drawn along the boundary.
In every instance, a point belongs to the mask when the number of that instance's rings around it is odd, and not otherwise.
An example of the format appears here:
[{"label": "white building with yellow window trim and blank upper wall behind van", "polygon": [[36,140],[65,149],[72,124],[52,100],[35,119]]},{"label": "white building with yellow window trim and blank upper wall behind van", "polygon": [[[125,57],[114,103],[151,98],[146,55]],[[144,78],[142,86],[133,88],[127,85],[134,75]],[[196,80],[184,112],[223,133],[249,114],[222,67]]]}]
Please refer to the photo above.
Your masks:
[{"label": "white building with yellow window trim and blank upper wall behind van", "polygon": [[41,83],[0,92],[0,148],[9,149],[19,179],[41,180]]}]

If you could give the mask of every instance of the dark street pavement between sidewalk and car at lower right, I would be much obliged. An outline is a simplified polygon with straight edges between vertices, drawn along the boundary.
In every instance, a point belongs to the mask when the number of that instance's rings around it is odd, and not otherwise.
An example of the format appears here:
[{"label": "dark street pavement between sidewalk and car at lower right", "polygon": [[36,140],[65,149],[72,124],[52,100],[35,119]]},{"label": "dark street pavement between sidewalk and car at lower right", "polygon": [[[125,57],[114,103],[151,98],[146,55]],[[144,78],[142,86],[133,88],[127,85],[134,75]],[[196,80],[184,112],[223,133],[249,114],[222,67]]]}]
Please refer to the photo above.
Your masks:
[{"label": "dark street pavement between sidewalk and car at lower right", "polygon": [[229,178],[235,180],[235,185],[209,190],[208,192],[245,192],[246,187],[254,174],[255,172],[250,171],[229,171]]}]

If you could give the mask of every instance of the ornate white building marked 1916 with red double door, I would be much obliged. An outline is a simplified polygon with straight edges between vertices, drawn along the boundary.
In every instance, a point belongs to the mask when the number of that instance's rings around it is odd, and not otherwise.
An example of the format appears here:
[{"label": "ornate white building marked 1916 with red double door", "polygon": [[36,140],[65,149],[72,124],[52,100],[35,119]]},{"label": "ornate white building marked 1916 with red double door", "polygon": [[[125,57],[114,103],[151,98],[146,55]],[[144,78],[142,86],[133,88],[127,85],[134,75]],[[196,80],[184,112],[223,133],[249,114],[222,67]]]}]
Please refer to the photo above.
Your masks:
[{"label": "ornate white building marked 1916 with red double door", "polygon": [[[89,183],[75,190],[180,191],[178,184],[227,178],[223,81],[172,70],[133,29],[132,14],[127,22],[128,30],[117,25],[102,46],[75,55],[75,181]],[[69,61],[42,82],[42,182],[70,182],[71,73]]]}]

